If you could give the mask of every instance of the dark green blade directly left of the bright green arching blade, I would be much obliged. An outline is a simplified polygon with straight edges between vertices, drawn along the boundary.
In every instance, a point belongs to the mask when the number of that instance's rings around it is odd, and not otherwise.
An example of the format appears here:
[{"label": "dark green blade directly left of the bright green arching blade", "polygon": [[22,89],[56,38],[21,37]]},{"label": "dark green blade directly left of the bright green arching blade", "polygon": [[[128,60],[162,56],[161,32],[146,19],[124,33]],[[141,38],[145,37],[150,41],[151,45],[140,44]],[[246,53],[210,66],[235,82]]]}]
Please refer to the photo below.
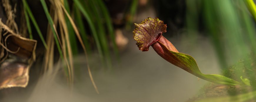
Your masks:
[{"label": "dark green blade directly left of the bright green arching blade", "polygon": [[91,53],[91,46],[89,44],[89,37],[87,36],[86,31],[85,31],[84,22],[82,20],[82,15],[81,15],[79,9],[76,6],[73,6],[73,7],[74,7],[75,22],[76,22],[77,27],[80,31],[80,34],[81,34],[81,37],[83,39],[83,42],[84,42],[85,48],[87,50],[87,53],[90,54]]}]

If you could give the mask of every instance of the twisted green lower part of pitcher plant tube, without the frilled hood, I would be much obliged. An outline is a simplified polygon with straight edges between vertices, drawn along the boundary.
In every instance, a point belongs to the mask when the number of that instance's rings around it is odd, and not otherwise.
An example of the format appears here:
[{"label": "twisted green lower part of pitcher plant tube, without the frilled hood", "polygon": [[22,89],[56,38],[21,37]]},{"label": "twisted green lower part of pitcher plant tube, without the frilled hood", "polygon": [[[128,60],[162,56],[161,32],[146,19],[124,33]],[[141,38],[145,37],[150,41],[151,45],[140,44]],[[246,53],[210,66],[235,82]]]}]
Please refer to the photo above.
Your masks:
[{"label": "twisted green lower part of pitcher plant tube, without the frilled hood", "polygon": [[[161,37],[162,38],[162,37]],[[183,70],[199,77],[204,80],[218,83],[218,84],[224,84],[224,85],[242,85],[240,82],[237,82],[233,79],[227,78],[222,75],[216,75],[216,74],[203,74],[200,69],[197,66],[197,62],[195,59],[187,54],[179,53],[179,52],[173,52],[169,50],[166,45],[161,43],[163,41],[160,38],[158,41],[159,45],[161,48],[164,50],[165,54],[168,54],[167,56],[169,57],[167,61],[170,63],[174,64],[175,66],[178,66],[179,68],[182,68]],[[153,47],[154,48],[154,47]],[[165,56],[165,57],[167,57]],[[173,61],[175,60],[175,61]]]}]

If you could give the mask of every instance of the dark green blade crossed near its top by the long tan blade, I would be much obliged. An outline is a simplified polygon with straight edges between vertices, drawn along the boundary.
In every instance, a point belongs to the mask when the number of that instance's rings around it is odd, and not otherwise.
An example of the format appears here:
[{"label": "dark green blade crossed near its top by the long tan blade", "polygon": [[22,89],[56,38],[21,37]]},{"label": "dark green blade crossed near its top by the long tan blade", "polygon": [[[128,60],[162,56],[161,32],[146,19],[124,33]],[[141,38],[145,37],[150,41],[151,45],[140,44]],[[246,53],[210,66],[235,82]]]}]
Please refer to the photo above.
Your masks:
[{"label": "dark green blade crossed near its top by the long tan blade", "polygon": [[[70,15],[70,8],[69,8],[69,3],[68,3],[67,0],[64,0],[64,7]],[[78,53],[76,35],[74,33],[72,25],[71,25],[69,19],[67,18],[67,16],[65,17],[65,19],[66,19],[67,28],[68,28],[68,31],[69,31],[69,40],[70,40],[70,45],[71,45],[71,48],[72,48],[72,52],[73,52],[74,55],[76,55]]]}]

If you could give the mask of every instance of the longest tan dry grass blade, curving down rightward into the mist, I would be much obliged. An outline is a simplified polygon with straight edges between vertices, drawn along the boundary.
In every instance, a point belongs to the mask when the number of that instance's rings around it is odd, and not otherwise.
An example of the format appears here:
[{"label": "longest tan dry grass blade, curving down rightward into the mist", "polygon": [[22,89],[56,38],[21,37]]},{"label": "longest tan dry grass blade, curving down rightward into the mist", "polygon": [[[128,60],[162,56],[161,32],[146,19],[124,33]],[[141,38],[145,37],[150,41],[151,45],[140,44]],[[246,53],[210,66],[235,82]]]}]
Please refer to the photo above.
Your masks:
[{"label": "longest tan dry grass blade, curving down rightward into the mist", "polygon": [[95,84],[95,82],[94,82],[94,80],[93,80],[93,77],[92,77],[92,73],[91,73],[90,66],[89,66],[88,55],[87,55],[87,52],[86,52],[86,48],[85,48],[85,46],[84,46],[84,44],[83,44],[82,38],[81,38],[81,36],[80,36],[80,34],[79,34],[79,31],[78,31],[78,29],[77,29],[77,27],[76,27],[74,21],[72,20],[72,18],[71,18],[70,15],[68,14],[67,10],[64,9],[64,6],[63,6],[63,5],[61,5],[61,6],[62,6],[64,12],[66,13],[67,17],[69,18],[69,21],[70,21],[71,24],[72,24],[72,27],[73,27],[73,29],[74,29],[76,35],[77,35],[77,38],[78,38],[79,42],[80,42],[81,45],[82,45],[82,48],[83,48],[83,50],[84,50],[84,54],[85,54],[85,57],[86,57],[87,69],[88,69],[88,72],[89,72],[90,79],[91,79],[91,81],[92,81],[92,84],[93,84],[93,86],[94,86],[96,92],[99,94],[98,88],[97,88],[97,86],[96,86],[96,84]]}]

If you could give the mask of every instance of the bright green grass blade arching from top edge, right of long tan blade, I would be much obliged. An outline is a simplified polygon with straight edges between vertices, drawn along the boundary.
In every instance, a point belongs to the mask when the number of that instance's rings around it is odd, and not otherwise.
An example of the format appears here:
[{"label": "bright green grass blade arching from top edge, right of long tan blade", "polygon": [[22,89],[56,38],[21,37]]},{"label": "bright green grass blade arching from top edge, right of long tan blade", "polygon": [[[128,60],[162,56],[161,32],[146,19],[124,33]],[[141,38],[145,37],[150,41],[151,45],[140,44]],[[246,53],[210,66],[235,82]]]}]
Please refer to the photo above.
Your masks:
[{"label": "bright green grass blade arching from top edge, right of long tan blade", "polygon": [[80,3],[79,0],[73,0],[75,5],[79,8],[79,10],[81,11],[81,13],[84,15],[84,17],[86,18],[88,24],[89,24],[89,27],[92,31],[92,35],[94,36],[94,40],[95,40],[95,43],[96,43],[96,46],[97,46],[97,49],[98,49],[98,52],[99,52],[99,56],[101,59],[103,59],[103,54],[102,54],[102,49],[101,49],[101,45],[100,45],[100,42],[99,42],[99,37],[97,35],[97,31],[95,29],[95,26],[92,22],[92,19],[91,17],[88,15],[87,11],[85,10],[85,8],[82,6],[82,4]]}]

